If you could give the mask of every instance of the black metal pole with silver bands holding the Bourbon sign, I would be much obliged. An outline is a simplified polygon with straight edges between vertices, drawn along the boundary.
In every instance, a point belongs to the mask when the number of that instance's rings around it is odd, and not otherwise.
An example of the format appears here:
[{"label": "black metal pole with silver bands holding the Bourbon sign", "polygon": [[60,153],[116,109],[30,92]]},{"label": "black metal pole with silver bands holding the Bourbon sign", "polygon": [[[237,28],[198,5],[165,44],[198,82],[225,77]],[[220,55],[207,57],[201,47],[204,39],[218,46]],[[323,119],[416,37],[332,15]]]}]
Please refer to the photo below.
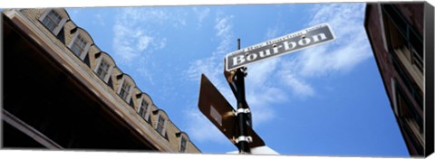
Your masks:
[{"label": "black metal pole with silver bands holding the Bourbon sign", "polygon": [[[240,39],[237,39],[237,50],[240,50]],[[248,146],[247,137],[247,116],[248,113],[240,113],[239,110],[246,110],[247,102],[245,97],[245,70],[237,69],[236,70],[236,87],[237,87],[237,124],[238,124],[238,147],[240,154],[250,154],[251,150]]]}]

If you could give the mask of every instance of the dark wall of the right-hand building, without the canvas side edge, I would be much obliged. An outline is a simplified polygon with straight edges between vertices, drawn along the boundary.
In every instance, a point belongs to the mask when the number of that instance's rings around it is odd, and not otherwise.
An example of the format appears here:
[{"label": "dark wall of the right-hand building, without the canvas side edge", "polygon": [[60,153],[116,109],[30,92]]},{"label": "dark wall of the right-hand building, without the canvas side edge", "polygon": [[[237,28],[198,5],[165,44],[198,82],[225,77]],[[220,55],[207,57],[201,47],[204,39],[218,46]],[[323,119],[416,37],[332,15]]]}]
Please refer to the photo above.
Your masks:
[{"label": "dark wall of the right-hand building, without the canvas side edge", "polygon": [[[369,4],[364,26],[411,155],[424,154],[423,3]],[[417,37],[417,38],[415,38]],[[422,58],[418,61],[417,58]]]}]

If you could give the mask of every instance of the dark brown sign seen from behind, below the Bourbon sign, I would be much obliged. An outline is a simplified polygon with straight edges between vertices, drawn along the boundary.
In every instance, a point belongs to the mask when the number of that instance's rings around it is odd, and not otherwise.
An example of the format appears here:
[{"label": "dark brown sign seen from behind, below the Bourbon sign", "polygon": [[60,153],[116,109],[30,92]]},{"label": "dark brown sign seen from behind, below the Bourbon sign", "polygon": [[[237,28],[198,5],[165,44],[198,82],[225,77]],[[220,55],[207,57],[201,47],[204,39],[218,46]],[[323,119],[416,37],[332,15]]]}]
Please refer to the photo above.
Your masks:
[{"label": "dark brown sign seen from behind, below the Bourbon sign", "polygon": [[[231,143],[236,145],[236,133],[239,128],[234,113],[236,111],[204,74],[201,75],[198,108],[213,125],[227,136]],[[247,127],[247,134],[252,137],[252,142],[248,144],[249,147],[265,145],[263,139],[256,134],[251,126]]]}]

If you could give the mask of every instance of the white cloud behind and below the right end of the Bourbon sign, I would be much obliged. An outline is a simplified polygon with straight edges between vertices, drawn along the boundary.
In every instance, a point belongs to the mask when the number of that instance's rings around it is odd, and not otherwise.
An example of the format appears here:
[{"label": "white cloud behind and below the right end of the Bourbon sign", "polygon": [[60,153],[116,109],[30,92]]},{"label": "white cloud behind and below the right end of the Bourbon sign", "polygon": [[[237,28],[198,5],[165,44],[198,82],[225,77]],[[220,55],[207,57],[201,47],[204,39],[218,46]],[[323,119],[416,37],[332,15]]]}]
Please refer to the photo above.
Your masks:
[{"label": "white cloud behind and below the right end of the Bourbon sign", "polygon": [[363,28],[363,4],[315,5],[313,19],[306,27],[329,23],[335,40],[285,57],[279,79],[299,98],[316,94],[309,79],[352,70],[372,56]]}]

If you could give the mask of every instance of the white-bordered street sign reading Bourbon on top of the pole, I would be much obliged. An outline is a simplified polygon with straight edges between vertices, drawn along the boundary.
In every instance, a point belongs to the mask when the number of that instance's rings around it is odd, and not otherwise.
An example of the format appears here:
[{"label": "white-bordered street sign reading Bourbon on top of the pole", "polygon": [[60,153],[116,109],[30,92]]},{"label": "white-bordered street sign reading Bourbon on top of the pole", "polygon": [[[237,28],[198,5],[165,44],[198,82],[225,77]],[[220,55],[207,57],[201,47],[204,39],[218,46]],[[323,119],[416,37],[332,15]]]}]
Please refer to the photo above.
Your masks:
[{"label": "white-bordered street sign reading Bourbon on top of the pole", "polygon": [[247,64],[262,61],[311,47],[324,42],[333,41],[333,33],[327,23],[319,24],[296,33],[290,33],[273,40],[261,42],[247,48],[228,53],[226,70],[235,70]]}]

